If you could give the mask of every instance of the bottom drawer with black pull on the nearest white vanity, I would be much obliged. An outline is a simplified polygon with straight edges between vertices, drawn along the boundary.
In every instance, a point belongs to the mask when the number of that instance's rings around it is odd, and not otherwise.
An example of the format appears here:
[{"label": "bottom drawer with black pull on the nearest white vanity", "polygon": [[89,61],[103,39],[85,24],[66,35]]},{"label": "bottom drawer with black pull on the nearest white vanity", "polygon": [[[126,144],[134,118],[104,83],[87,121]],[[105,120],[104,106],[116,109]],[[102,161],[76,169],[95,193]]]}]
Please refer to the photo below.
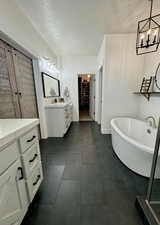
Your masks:
[{"label": "bottom drawer with black pull on the nearest white vanity", "polygon": [[29,201],[32,202],[36,192],[39,189],[39,186],[43,180],[43,173],[41,164],[39,164],[35,169],[31,176],[27,179],[27,186],[28,186],[28,194],[29,194]]}]

